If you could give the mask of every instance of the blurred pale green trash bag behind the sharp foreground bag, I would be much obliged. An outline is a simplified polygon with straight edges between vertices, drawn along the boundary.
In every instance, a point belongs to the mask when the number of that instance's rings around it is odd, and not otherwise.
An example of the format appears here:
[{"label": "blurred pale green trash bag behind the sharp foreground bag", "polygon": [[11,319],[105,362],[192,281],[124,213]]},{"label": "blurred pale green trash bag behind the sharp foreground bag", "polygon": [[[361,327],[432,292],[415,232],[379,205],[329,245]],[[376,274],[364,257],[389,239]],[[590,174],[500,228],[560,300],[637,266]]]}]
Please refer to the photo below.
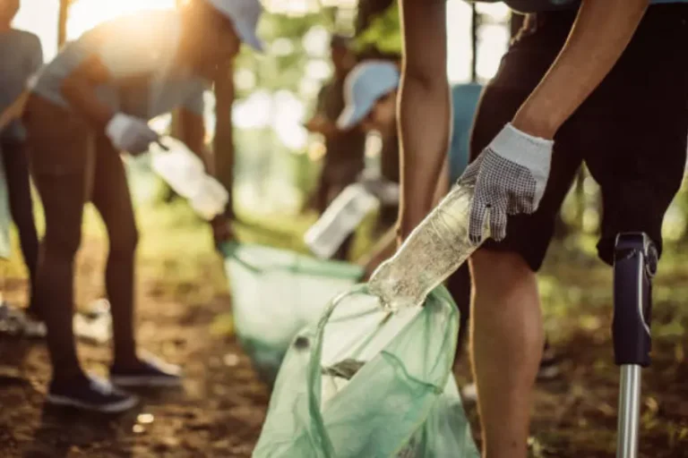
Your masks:
[{"label": "blurred pale green trash bag behind the sharp foreground bag", "polygon": [[222,247],[239,342],[265,382],[272,384],[289,344],[363,276],[361,267],[276,248]]}]

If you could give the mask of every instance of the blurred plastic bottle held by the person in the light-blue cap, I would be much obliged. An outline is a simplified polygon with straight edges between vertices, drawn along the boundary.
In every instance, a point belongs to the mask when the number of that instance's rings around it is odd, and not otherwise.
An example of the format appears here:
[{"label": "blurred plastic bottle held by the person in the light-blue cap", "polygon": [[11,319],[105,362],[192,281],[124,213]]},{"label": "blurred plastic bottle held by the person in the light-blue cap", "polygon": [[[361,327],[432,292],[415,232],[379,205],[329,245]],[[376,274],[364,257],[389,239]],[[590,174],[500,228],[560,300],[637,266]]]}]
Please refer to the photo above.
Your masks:
[{"label": "blurred plastic bottle held by the person in the light-blue cap", "polygon": [[377,205],[362,184],[349,184],[305,233],[305,244],[318,258],[330,259]]}]

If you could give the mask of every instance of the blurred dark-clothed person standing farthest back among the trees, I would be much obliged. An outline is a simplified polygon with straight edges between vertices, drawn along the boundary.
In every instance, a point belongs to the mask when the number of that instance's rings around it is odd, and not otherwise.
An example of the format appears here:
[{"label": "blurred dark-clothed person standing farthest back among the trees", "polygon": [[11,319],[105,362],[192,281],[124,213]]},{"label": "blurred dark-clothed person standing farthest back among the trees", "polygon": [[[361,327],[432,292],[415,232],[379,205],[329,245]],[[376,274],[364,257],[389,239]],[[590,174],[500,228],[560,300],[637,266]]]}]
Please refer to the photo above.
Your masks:
[{"label": "blurred dark-clothed person standing farthest back among the trees", "polygon": [[[331,60],[334,67],[332,80],[318,93],[314,116],[305,128],[323,135],[325,157],[320,181],[308,205],[323,213],[333,199],[349,184],[356,182],[365,166],[366,133],[357,129],[340,130],[337,118],[344,109],[344,81],[356,65],[356,55],[350,40],[340,35],[331,38]],[[349,237],[335,258],[346,259],[352,238]]]}]

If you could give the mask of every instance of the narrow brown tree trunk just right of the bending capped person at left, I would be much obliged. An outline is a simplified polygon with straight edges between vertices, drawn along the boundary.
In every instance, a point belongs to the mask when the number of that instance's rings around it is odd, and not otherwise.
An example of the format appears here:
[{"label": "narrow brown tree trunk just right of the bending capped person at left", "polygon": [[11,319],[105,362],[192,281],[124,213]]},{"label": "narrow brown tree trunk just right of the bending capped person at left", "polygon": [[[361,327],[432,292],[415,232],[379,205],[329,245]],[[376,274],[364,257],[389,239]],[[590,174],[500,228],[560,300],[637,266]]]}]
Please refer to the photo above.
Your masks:
[{"label": "narrow brown tree trunk just right of the bending capped person at left", "polygon": [[218,72],[215,80],[215,138],[212,142],[215,175],[229,193],[226,214],[234,217],[232,188],[234,185],[234,126],[232,106],[234,105],[234,64],[229,63],[226,71]]}]

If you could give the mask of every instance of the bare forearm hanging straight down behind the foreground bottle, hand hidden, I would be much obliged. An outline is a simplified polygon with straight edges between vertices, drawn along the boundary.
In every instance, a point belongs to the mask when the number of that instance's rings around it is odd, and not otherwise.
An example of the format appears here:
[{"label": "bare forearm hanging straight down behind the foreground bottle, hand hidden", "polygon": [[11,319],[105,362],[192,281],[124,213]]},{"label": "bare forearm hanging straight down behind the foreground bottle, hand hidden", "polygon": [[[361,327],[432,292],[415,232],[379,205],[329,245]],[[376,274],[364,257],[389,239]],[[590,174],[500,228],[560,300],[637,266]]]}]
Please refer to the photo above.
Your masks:
[{"label": "bare forearm hanging straight down behind the foreground bottle, hand hidden", "polygon": [[400,231],[406,236],[433,207],[437,177],[449,147],[452,107],[446,76],[444,3],[405,0],[401,16]]}]

